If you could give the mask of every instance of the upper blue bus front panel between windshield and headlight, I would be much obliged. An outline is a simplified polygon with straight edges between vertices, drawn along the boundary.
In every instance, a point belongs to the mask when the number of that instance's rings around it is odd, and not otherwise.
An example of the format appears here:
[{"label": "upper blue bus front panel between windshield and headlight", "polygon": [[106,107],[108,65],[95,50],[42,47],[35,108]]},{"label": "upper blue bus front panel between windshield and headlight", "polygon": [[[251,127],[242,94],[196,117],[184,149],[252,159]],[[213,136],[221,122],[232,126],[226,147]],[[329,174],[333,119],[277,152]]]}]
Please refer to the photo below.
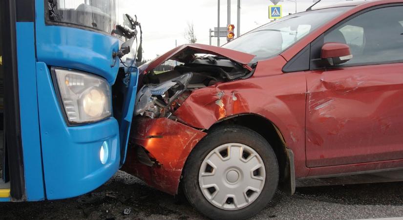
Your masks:
[{"label": "upper blue bus front panel between windshield and headlight", "polygon": [[45,25],[44,0],[36,2],[37,59],[48,66],[77,69],[100,75],[114,84],[119,69],[112,52],[119,50],[115,37],[91,30]]}]

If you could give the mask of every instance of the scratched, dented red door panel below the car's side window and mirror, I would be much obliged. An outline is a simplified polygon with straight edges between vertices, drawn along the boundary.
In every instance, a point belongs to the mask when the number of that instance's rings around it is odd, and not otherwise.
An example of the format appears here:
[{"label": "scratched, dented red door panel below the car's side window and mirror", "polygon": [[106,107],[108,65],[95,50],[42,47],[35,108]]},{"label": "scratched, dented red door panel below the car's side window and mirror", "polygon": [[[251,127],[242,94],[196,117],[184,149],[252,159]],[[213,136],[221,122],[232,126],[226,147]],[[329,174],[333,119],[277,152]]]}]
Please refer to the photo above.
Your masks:
[{"label": "scratched, dented red door panel below the car's side window and mirror", "polygon": [[397,69],[399,64],[307,74],[308,167],[403,157],[403,103],[398,101],[403,97],[403,76]]}]

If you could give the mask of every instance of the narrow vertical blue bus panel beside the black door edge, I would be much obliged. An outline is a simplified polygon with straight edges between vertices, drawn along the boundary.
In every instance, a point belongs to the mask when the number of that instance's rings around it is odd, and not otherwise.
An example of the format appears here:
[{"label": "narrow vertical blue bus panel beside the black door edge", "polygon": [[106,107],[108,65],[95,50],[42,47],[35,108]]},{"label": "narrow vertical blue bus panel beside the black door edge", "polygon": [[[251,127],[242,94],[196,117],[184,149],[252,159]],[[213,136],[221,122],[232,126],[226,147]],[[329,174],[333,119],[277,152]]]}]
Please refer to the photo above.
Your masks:
[{"label": "narrow vertical blue bus panel beside the black door edge", "polygon": [[44,199],[33,22],[17,22],[18,83],[26,197]]}]

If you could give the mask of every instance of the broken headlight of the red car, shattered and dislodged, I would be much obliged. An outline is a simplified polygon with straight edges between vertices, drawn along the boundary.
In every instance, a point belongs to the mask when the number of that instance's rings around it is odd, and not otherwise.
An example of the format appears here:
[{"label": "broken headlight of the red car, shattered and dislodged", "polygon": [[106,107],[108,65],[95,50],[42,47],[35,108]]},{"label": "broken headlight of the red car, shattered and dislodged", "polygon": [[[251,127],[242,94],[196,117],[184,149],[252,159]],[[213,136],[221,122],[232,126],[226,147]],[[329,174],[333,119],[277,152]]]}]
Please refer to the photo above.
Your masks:
[{"label": "broken headlight of the red car, shattered and dislodged", "polygon": [[154,117],[155,114],[159,114],[186,90],[191,77],[192,73],[189,72],[162,84],[146,85],[141,88],[136,97],[135,115],[148,112],[150,117]]}]

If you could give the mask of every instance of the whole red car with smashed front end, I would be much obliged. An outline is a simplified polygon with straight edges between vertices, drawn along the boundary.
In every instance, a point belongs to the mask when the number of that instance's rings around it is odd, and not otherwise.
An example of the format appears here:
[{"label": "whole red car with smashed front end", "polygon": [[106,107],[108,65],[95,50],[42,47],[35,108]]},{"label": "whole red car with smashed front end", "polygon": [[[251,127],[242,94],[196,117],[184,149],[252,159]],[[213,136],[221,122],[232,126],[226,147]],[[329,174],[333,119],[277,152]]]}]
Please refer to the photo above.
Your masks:
[{"label": "whole red car with smashed front end", "polygon": [[[167,60],[181,64],[155,74]],[[297,13],[139,69],[123,169],[209,218],[252,217],[298,179],[403,169],[402,0]]]}]

